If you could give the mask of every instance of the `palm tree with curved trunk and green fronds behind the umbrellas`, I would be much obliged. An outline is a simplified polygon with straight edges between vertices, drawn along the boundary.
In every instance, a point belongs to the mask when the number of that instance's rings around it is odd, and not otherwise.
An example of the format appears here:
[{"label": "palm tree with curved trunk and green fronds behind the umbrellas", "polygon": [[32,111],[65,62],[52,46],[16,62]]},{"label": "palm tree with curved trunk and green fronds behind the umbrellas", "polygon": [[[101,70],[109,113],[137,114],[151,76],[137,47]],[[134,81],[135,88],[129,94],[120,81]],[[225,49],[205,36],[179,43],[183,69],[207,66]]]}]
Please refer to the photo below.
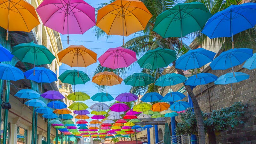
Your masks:
[{"label": "palm tree with curved trunk and green fronds behind the umbrellas", "polygon": [[[185,2],[189,3],[193,1],[196,1],[196,0],[187,0]],[[227,0],[214,0],[214,1],[198,0],[198,2],[204,3],[212,14],[227,8],[231,4],[238,4],[240,1],[241,0],[228,0],[228,1]],[[181,47],[179,38],[172,37],[172,38],[163,39],[156,32],[152,31],[154,27],[154,23],[156,21],[156,17],[163,11],[172,8],[175,4],[178,3],[178,1],[176,0],[144,0],[143,2],[148,8],[148,10],[151,12],[153,17],[150,19],[146,29],[144,31],[136,32],[134,34],[135,38],[127,41],[124,47],[135,51],[138,59],[143,54],[145,54],[146,51],[155,49],[157,47],[174,50],[177,54],[177,58],[180,55],[186,53],[190,48],[184,44]],[[97,37],[104,35],[104,32],[100,28],[94,27],[94,31],[96,32]],[[190,37],[195,38],[198,41],[198,43],[207,43],[207,42],[209,43],[209,40],[207,40],[208,38],[205,35],[201,34],[200,31],[191,33]],[[236,34],[234,36],[235,47],[242,47],[242,46],[255,47],[256,46],[255,38],[256,38],[256,34],[254,29],[246,30],[244,32]],[[222,45],[222,49],[227,49],[227,47],[231,48],[231,40],[229,38],[213,39],[211,42],[214,43],[215,41],[218,41]],[[172,64],[175,67],[176,61],[172,62]],[[105,68],[99,65],[95,73],[102,72],[102,71],[113,71],[115,73],[118,73],[118,72],[125,73],[131,67],[132,66],[128,68],[119,68],[119,69],[113,70],[113,69]],[[176,70],[178,74],[181,74],[184,76],[184,73],[181,69],[176,69]],[[156,80],[158,77],[168,73],[169,71],[166,71],[164,68],[158,68],[155,70],[142,69],[142,72],[150,74]],[[99,87],[99,88],[105,89],[104,87]],[[194,111],[195,111],[196,120],[197,120],[197,131],[199,136],[199,143],[205,143],[204,124],[203,124],[201,109],[199,107],[199,104],[190,86],[185,85],[185,88],[188,94],[190,95],[194,105]],[[160,92],[161,89],[162,87],[155,86],[153,83],[148,86],[132,87],[130,92],[136,95],[143,95],[145,92],[155,92],[155,91]]]}]

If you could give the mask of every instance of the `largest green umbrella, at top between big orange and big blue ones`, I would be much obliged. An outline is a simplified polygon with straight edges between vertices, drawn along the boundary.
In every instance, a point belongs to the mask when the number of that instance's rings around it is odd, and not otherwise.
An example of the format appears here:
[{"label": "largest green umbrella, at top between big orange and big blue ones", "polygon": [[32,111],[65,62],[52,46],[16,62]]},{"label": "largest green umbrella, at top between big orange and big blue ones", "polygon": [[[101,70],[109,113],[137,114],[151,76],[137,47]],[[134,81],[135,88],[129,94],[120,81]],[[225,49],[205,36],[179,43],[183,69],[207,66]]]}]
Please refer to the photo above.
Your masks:
[{"label": "largest green umbrella, at top between big orange and big blue ones", "polygon": [[156,18],[153,31],[163,38],[184,37],[191,32],[201,30],[211,16],[203,3],[176,4]]}]

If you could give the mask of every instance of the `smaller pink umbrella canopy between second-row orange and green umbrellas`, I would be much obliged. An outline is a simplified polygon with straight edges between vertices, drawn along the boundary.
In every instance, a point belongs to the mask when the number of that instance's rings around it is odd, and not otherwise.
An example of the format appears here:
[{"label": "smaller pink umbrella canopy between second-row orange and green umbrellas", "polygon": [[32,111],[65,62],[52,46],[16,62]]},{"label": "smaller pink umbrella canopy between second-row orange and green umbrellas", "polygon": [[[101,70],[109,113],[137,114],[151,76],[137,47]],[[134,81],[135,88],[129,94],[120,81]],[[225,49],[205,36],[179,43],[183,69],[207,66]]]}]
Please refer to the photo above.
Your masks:
[{"label": "smaller pink umbrella canopy between second-row orange and green umbrellas", "polygon": [[136,53],[123,47],[109,48],[98,60],[100,65],[107,68],[124,68],[137,61]]}]

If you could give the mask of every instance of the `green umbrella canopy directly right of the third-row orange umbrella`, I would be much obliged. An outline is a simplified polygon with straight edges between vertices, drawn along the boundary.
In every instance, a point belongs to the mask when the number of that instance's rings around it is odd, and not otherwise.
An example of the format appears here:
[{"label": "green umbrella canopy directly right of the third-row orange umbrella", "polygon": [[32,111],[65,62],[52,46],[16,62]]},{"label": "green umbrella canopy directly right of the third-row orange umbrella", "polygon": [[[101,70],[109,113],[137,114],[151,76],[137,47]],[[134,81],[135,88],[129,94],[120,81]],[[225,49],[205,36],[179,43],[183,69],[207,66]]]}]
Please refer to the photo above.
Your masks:
[{"label": "green umbrella canopy directly right of the third-row orange umbrella", "polygon": [[154,78],[145,73],[134,73],[124,79],[124,83],[131,86],[146,86],[155,83]]}]

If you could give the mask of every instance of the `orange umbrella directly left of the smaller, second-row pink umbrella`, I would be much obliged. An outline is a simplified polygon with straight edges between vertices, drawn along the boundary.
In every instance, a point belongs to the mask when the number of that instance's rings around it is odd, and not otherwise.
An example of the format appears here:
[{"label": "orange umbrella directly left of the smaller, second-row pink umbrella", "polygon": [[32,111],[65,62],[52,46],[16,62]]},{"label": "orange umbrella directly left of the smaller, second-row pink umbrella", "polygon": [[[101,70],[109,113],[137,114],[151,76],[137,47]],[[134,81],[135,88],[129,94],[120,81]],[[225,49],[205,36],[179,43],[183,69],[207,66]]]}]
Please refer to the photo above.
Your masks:
[{"label": "orange umbrella directly left of the smaller, second-row pink umbrella", "polygon": [[97,61],[97,54],[82,45],[71,45],[57,55],[60,62],[70,67],[77,67],[77,70],[78,67],[87,67]]}]

